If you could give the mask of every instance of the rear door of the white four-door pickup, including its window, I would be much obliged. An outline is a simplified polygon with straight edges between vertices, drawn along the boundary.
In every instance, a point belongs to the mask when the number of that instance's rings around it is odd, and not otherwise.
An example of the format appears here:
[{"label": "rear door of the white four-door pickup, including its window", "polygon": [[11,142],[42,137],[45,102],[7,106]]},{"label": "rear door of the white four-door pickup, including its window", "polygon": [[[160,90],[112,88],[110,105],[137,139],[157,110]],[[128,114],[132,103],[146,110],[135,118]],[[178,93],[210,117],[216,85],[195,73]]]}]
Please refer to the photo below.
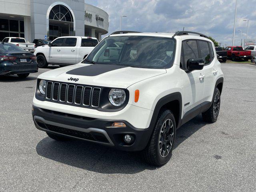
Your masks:
[{"label": "rear door of the white four-door pickup, including its window", "polygon": [[65,38],[62,46],[62,63],[65,64],[76,64],[77,44],[78,40],[76,37]]}]

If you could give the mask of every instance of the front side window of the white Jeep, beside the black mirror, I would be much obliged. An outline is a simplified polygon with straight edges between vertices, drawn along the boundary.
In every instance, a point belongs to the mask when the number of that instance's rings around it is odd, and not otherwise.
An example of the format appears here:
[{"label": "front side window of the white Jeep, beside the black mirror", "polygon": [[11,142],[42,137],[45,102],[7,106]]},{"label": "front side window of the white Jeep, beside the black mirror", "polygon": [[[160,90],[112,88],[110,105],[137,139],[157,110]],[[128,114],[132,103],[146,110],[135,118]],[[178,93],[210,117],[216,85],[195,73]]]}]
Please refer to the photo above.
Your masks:
[{"label": "front side window of the white Jeep, beside the black mirror", "polygon": [[198,48],[195,40],[188,40],[182,42],[183,53],[184,53],[184,69],[187,69],[188,60],[193,58],[199,58]]}]

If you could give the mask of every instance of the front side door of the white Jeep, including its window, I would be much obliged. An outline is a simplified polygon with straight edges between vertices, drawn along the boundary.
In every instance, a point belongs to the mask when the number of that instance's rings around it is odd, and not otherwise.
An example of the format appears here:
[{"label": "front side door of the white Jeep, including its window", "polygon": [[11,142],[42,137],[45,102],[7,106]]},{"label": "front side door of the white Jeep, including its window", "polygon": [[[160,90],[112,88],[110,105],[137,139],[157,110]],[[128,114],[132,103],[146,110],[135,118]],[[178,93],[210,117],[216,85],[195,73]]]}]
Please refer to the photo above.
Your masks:
[{"label": "front side door of the white Jeep, including its window", "polygon": [[187,62],[192,58],[199,58],[198,44],[196,40],[185,40],[182,42],[183,58],[181,61],[181,72],[184,76],[184,113],[200,105],[204,95],[204,70],[193,70],[186,72]]}]

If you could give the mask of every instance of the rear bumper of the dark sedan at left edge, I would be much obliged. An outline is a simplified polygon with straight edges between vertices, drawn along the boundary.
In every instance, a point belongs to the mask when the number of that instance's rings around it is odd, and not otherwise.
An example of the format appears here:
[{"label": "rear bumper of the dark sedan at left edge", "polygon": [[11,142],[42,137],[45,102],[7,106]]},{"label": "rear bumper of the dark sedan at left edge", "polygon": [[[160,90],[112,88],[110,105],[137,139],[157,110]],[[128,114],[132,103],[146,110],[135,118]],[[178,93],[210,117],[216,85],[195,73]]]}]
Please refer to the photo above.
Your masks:
[{"label": "rear bumper of the dark sedan at left edge", "polygon": [[11,62],[0,64],[0,75],[36,72],[38,72],[37,62],[34,62],[33,64],[12,64]]}]

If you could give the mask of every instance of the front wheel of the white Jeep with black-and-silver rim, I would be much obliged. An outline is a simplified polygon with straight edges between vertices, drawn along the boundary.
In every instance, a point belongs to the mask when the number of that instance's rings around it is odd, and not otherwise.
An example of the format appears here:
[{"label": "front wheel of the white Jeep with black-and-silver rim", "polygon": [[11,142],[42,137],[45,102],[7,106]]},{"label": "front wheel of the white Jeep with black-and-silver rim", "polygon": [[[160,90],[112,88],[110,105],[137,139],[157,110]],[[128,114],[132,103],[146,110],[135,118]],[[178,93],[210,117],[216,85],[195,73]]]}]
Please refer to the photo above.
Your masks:
[{"label": "front wheel of the white Jeep with black-and-silver rim", "polygon": [[148,145],[143,150],[146,162],[154,166],[166,164],[172,156],[175,136],[176,124],[172,112],[161,111]]}]

